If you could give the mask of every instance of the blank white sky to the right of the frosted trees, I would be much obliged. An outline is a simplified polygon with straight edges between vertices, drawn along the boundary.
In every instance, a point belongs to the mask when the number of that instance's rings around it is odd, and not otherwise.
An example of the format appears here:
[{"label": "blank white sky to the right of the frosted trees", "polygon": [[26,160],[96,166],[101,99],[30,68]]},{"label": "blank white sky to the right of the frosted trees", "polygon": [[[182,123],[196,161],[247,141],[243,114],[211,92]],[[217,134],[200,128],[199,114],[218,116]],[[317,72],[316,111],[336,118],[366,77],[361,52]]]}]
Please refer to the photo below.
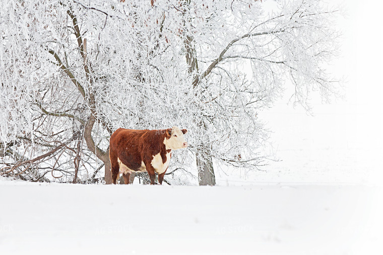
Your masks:
[{"label": "blank white sky to the right of the frosted trees", "polygon": [[[381,8],[363,1],[333,1],[342,6],[341,56],[329,69],[344,76],[344,100],[331,105],[312,101],[314,116],[287,105],[286,90],[275,106],[260,113],[273,130],[277,156],[267,175],[256,180],[291,182],[379,183],[382,180]],[[278,172],[278,173],[276,173]],[[270,175],[271,173],[271,175]],[[274,173],[274,175],[273,175]]]}]

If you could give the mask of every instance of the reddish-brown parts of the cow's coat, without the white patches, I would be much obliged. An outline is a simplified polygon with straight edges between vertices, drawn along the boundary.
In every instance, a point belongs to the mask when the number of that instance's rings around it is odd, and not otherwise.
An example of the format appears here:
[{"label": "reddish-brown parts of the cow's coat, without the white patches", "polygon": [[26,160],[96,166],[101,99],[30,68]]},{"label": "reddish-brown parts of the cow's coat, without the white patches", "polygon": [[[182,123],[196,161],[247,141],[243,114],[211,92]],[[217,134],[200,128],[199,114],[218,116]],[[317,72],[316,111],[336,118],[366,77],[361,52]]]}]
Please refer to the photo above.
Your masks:
[{"label": "reddish-brown parts of the cow's coat, without the white patches", "polygon": [[[182,131],[183,132],[183,131]],[[144,162],[146,171],[148,172],[151,184],[154,184],[155,170],[151,165],[154,155],[160,153],[163,163],[166,162],[166,153],[171,149],[166,150],[164,139],[169,139],[171,129],[164,130],[133,130],[133,129],[117,129],[110,136],[109,157],[112,168],[112,182],[116,183],[119,176],[119,162],[127,166],[132,171],[142,171],[141,164]],[[168,158],[170,160],[171,154]],[[141,168],[141,169],[140,169]],[[166,172],[166,170],[165,170]],[[159,178],[159,183],[162,183],[162,173]],[[126,180],[129,183],[130,173],[124,175],[125,184]]]}]

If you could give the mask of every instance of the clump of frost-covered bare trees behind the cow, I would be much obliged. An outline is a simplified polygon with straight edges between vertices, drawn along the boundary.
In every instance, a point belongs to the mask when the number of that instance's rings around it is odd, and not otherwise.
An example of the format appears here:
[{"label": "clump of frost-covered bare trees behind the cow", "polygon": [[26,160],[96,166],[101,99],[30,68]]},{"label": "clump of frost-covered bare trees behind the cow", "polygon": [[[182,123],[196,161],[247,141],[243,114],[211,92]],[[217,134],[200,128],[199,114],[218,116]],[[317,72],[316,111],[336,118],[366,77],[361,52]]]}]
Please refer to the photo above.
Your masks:
[{"label": "clump of frost-covered bare trees behind the cow", "polygon": [[[285,86],[337,93],[334,10],[320,1],[2,1],[2,174],[89,182],[118,127],[189,130],[172,169],[213,161],[258,169],[268,138],[257,113]],[[265,3],[267,2],[267,3]],[[61,174],[58,174],[60,172]]]}]

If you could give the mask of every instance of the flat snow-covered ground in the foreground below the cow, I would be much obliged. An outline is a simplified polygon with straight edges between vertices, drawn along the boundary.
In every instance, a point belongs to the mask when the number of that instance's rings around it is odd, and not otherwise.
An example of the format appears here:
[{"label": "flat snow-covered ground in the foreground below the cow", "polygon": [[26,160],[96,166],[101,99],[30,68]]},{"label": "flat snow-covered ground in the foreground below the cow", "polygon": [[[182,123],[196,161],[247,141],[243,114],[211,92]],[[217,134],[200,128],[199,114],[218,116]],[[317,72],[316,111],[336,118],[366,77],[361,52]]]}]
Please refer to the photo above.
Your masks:
[{"label": "flat snow-covered ground in the foreground below the cow", "polygon": [[[381,254],[376,186],[0,179],[1,254]],[[379,252],[380,249],[380,252]]]}]

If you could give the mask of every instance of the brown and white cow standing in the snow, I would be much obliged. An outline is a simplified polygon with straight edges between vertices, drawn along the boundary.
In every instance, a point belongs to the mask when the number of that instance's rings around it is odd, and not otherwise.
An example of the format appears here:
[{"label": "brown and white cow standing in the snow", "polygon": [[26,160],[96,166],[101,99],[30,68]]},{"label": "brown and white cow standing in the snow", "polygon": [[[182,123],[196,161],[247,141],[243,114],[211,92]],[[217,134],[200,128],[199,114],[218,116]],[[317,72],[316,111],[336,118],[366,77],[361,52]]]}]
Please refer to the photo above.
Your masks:
[{"label": "brown and white cow standing in the snow", "polygon": [[112,182],[116,184],[122,174],[125,184],[133,172],[148,172],[150,184],[155,173],[162,184],[168,168],[171,150],[187,147],[183,135],[186,129],[172,127],[163,130],[117,129],[110,136],[109,158],[112,165]]}]

